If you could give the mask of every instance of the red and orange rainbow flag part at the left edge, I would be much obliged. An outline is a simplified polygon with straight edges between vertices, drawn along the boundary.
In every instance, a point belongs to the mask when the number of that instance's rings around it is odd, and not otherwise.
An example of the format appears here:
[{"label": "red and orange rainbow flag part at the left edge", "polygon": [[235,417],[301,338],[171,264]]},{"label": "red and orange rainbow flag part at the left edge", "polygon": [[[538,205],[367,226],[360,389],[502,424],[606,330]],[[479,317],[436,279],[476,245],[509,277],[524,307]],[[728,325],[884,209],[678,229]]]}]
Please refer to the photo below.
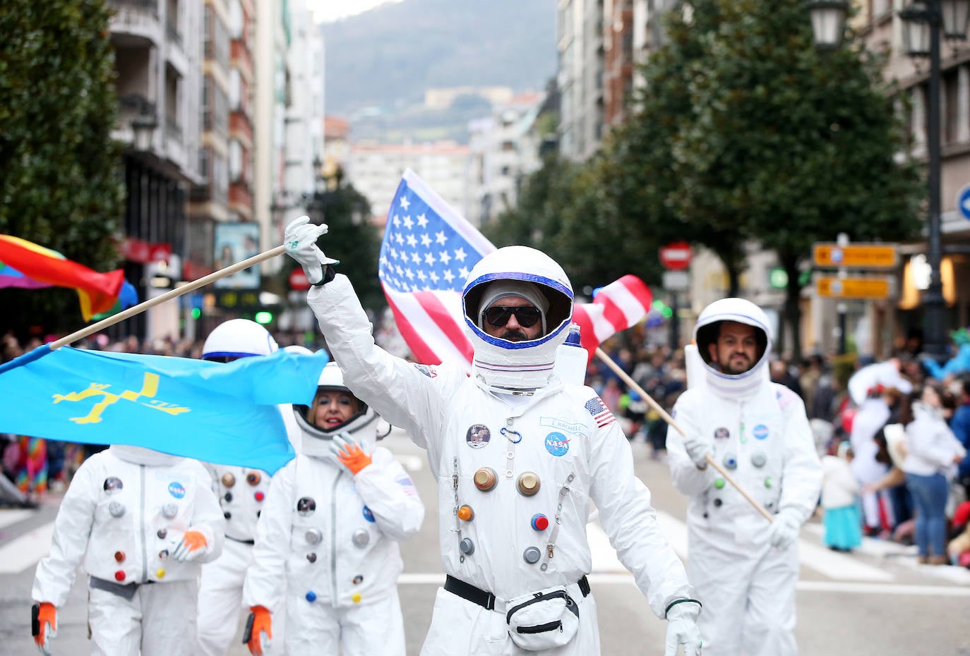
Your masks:
[{"label": "red and orange rainbow flag part at the left edge", "polygon": [[76,289],[84,321],[112,309],[124,283],[124,271],[120,268],[98,273],[68,260],[57,251],[11,234],[0,234],[0,263],[5,265],[0,276],[6,269],[13,268],[35,282]]}]

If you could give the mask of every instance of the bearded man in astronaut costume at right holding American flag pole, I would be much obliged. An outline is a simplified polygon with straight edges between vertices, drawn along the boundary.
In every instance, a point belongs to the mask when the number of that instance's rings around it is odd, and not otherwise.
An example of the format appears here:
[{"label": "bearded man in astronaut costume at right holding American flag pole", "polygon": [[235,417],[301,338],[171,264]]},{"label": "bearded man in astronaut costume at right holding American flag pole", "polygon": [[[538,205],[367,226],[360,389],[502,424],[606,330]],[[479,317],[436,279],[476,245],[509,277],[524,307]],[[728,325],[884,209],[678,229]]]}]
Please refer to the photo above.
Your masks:
[{"label": "bearded man in astronaut costume at right holding American flag pole", "polygon": [[[805,406],[770,382],[771,328],[754,303],[723,298],[697,318],[705,380],[674,405],[687,434],[667,430],[673,483],[690,497],[688,573],[704,605],[704,656],[793,656],[798,530],[822,488]],[[769,512],[768,522],[706,456]]]}]

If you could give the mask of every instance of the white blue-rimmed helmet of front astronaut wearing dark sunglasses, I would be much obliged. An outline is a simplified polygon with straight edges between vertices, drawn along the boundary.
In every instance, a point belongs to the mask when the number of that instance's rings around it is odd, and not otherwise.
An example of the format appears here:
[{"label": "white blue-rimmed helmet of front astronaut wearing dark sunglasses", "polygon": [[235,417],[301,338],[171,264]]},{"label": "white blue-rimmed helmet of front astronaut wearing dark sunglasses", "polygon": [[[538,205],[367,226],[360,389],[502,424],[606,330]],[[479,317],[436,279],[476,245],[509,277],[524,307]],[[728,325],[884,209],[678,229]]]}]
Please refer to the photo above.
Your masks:
[{"label": "white blue-rimmed helmet of front astronaut wearing dark sunglasses", "polygon": [[[475,380],[511,391],[548,384],[556,348],[569,332],[572,301],[563,267],[541,251],[505,246],[479,260],[462,293]],[[509,326],[513,315],[517,327]]]}]

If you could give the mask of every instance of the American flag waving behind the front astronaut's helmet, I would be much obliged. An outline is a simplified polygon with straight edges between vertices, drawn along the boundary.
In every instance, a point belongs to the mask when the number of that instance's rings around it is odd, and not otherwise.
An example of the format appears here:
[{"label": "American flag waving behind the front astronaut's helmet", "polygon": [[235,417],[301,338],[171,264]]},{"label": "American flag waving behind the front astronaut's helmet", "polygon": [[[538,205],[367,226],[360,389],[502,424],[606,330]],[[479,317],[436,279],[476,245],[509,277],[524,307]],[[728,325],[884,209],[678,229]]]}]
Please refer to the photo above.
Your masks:
[{"label": "American flag waving behind the front astronaut's helmet", "polygon": [[[462,288],[471,267],[494,250],[415,172],[404,172],[387,213],[377,273],[418,362],[464,362],[470,369]],[[652,300],[642,280],[625,275],[603,287],[592,303],[576,303],[572,320],[590,357],[599,342],[643,319]]]}]

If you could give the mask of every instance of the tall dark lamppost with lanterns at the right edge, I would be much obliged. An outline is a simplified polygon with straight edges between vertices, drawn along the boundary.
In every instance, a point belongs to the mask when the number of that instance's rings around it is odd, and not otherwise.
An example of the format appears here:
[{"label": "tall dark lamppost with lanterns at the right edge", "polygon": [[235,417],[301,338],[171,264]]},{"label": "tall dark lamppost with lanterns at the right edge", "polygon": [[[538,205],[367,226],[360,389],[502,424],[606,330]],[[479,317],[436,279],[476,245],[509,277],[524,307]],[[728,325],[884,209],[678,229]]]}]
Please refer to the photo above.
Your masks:
[{"label": "tall dark lamppost with lanterns at the right edge", "polygon": [[929,57],[926,101],[926,156],[929,191],[929,287],[923,300],[923,351],[936,360],[947,358],[946,300],[940,277],[940,31],[947,39],[965,40],[970,17],[968,0],[924,0],[899,12],[903,45],[910,57]]}]

